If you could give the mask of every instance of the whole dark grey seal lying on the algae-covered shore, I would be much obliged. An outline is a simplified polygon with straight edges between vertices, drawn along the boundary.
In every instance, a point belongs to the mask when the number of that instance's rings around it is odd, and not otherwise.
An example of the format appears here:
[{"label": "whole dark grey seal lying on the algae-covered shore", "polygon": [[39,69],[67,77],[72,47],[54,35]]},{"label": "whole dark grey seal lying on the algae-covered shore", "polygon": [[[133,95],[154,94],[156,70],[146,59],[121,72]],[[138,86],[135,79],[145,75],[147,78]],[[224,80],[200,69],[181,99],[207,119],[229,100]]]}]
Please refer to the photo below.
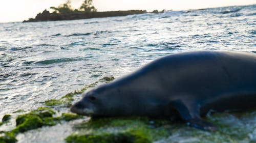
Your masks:
[{"label": "whole dark grey seal lying on the algae-covered shore", "polygon": [[209,111],[256,108],[256,55],[196,51],[165,56],[86,93],[71,111],[86,116],[181,119],[213,131]]}]

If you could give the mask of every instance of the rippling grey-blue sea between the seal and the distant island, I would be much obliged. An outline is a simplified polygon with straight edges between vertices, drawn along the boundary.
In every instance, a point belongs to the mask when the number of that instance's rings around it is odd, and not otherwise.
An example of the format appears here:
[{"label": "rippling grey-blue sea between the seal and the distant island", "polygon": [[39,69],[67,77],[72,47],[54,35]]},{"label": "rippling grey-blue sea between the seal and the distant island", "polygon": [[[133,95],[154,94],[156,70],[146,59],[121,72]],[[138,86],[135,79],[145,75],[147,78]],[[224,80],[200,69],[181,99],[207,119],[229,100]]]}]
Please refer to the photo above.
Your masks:
[{"label": "rippling grey-blue sea between the seal and the distant island", "polygon": [[[254,53],[255,24],[256,5],[0,23],[0,118],[35,109],[105,75],[118,78],[164,55],[189,50]],[[249,121],[255,124],[255,118]],[[255,132],[248,134],[255,139]]]}]

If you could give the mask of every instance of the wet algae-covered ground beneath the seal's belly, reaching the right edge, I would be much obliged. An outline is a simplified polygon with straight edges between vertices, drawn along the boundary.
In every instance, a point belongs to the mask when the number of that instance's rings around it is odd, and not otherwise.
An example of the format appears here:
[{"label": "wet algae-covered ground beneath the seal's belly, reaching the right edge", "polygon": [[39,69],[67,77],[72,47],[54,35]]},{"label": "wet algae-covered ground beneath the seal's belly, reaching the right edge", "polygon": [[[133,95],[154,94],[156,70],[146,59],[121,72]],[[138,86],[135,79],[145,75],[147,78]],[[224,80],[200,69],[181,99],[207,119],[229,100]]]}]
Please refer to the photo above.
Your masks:
[{"label": "wet algae-covered ground beneath the seal's belly, reaching the right edge", "polygon": [[[141,133],[150,141],[159,142],[255,142],[256,111],[244,113],[215,113],[204,120],[218,126],[215,132],[207,132],[185,126],[184,123],[173,123],[164,119],[150,119],[147,117],[129,118],[91,118],[87,122],[74,126],[75,134],[66,138],[66,142],[84,140],[109,141],[101,138],[105,134],[115,136],[119,133]],[[250,122],[248,122],[250,121]],[[92,136],[92,139],[90,138]],[[91,140],[90,140],[91,139]],[[105,140],[104,140],[105,139]]]}]

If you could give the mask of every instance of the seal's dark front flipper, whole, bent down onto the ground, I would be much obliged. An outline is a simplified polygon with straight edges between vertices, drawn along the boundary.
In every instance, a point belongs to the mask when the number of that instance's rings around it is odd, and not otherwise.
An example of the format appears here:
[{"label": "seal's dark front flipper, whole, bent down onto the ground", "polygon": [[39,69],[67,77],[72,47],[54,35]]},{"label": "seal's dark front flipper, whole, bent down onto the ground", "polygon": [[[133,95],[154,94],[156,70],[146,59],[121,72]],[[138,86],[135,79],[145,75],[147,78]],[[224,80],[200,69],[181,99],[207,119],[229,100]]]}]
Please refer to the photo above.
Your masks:
[{"label": "seal's dark front flipper, whole, bent down onto the ground", "polygon": [[196,104],[185,104],[182,100],[175,100],[170,102],[169,106],[179,112],[181,119],[185,121],[188,126],[206,131],[217,130],[214,124],[200,119],[199,107],[197,107]]}]

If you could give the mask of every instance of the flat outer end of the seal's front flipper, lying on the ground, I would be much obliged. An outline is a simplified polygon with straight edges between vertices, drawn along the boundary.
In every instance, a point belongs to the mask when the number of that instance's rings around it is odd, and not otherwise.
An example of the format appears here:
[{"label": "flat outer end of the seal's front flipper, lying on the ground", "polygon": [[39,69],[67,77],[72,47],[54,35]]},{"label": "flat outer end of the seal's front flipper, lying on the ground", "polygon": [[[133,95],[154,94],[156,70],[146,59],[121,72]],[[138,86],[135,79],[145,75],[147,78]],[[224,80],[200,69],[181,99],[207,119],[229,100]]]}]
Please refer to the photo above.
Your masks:
[{"label": "flat outer end of the seal's front flipper, lying on the ground", "polygon": [[205,130],[205,131],[217,130],[217,127],[214,124],[203,121],[201,119],[189,119],[187,120],[187,125],[190,127]]}]

